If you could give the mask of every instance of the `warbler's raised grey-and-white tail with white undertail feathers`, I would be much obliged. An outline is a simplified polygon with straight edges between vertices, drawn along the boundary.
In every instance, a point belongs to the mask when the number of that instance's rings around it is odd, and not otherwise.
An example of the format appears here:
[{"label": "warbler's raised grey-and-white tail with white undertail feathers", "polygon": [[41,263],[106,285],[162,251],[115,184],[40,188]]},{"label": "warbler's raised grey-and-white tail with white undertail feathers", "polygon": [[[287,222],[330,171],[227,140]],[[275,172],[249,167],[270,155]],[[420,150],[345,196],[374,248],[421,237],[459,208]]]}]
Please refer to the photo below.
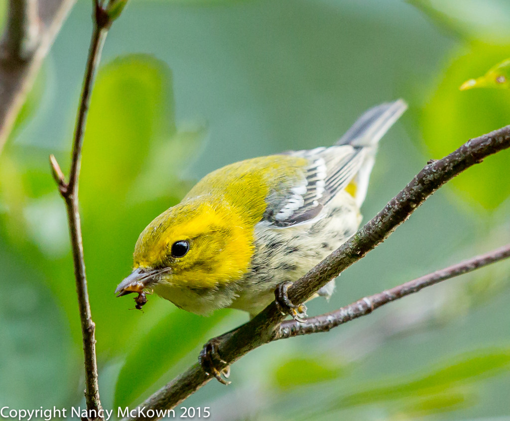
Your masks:
[{"label": "warbler's raised grey-and-white tail with white undertail feathers", "polygon": [[368,180],[374,166],[377,144],[406,109],[407,104],[403,99],[373,107],[356,120],[336,143],[364,149],[364,162],[353,180],[356,185],[355,199],[358,206],[361,206],[367,195]]}]

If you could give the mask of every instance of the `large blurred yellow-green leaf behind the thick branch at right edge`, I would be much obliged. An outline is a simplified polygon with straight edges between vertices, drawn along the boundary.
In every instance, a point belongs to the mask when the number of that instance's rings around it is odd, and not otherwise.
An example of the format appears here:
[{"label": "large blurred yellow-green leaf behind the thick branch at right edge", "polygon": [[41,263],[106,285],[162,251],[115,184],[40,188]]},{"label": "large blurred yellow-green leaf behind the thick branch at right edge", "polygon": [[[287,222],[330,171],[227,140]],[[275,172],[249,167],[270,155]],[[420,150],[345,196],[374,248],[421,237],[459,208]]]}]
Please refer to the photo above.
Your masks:
[{"label": "large blurred yellow-green leaf behind the thick branch at right edge", "polygon": [[[430,157],[445,156],[468,139],[508,124],[508,91],[474,89],[461,92],[458,86],[471,75],[483,73],[487,63],[506,57],[509,47],[474,43],[467,54],[463,52],[453,58],[423,112],[423,137]],[[478,204],[477,209],[493,210],[510,196],[510,177],[501,176],[509,167],[510,153],[503,151],[454,178],[448,186],[469,205]]]}]

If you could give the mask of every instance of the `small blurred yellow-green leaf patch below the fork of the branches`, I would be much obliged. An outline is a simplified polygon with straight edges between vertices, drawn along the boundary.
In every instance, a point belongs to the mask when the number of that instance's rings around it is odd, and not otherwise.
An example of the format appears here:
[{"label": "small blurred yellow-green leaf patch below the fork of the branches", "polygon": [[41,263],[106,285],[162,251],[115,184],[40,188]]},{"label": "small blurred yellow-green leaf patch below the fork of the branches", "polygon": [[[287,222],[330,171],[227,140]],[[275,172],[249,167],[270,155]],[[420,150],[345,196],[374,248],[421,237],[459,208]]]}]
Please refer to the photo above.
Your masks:
[{"label": "small blurred yellow-green leaf patch below the fork of the branches", "polygon": [[287,359],[278,364],[274,373],[276,385],[284,390],[312,383],[336,379],[344,374],[344,367],[331,364],[321,356]]}]

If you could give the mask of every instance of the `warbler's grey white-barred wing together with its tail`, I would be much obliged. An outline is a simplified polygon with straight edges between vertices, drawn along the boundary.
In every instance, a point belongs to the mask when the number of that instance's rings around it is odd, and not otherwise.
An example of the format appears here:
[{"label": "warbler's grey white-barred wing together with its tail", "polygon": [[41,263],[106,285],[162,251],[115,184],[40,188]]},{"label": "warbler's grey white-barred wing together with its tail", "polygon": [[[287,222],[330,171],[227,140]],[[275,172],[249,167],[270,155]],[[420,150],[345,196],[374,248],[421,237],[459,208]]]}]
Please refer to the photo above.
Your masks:
[{"label": "warbler's grey white-barred wing together with its tail", "polygon": [[377,144],[407,108],[398,99],[366,111],[335,146],[288,152],[303,157],[309,165],[302,179],[287,190],[269,195],[264,218],[273,225],[287,227],[320,214],[324,205],[352,181],[354,199],[361,206],[368,189]]}]

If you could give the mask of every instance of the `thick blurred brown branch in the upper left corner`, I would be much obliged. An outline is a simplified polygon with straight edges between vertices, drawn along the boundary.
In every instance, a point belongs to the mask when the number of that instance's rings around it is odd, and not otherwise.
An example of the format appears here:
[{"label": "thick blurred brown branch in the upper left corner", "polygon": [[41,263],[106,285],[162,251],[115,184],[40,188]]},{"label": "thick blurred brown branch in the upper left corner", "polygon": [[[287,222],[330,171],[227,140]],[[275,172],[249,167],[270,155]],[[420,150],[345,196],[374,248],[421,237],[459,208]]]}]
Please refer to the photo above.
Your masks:
[{"label": "thick blurred brown branch in the upper left corner", "polygon": [[0,41],[0,152],[76,0],[10,0]]}]

